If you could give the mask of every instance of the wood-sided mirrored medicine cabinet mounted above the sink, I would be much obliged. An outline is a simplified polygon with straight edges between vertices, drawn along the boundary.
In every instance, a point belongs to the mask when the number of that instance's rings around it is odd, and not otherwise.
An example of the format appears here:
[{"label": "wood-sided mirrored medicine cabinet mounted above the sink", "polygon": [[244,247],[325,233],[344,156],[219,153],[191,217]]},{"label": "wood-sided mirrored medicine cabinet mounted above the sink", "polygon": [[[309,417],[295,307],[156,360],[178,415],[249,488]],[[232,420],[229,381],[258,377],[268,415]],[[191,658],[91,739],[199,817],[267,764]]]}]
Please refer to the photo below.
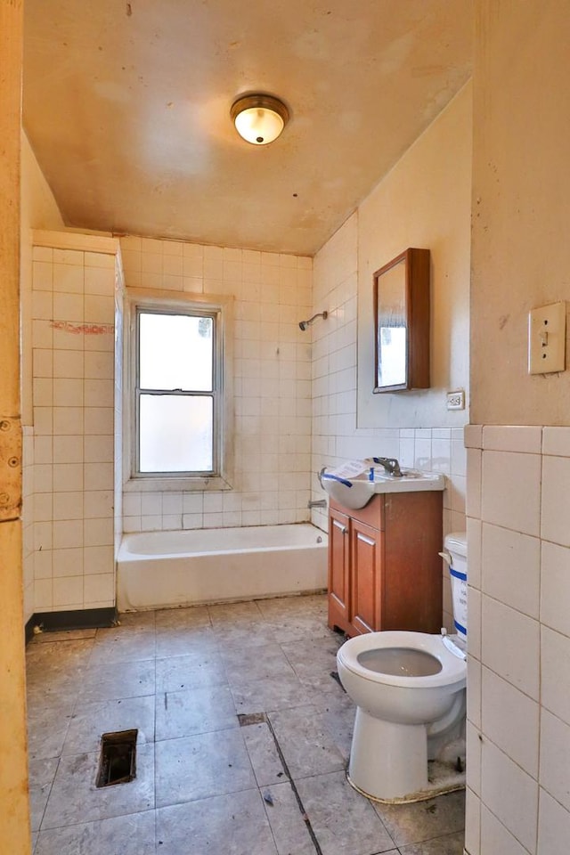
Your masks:
[{"label": "wood-sided mirrored medicine cabinet mounted above the sink", "polygon": [[429,249],[406,249],[374,273],[374,392],[429,386]]}]

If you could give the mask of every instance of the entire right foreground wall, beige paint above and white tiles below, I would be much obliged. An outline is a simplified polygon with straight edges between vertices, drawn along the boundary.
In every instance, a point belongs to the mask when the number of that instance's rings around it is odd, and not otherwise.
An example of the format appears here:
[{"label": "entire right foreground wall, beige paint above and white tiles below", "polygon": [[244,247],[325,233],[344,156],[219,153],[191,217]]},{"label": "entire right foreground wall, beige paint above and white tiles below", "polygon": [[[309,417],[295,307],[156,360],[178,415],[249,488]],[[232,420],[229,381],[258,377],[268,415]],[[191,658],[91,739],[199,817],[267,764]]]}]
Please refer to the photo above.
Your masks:
[{"label": "entire right foreground wall, beige paint above and white tiles below", "polygon": [[476,0],[468,855],[570,838],[570,373],[526,371],[529,309],[570,299],[569,42],[567,0]]}]

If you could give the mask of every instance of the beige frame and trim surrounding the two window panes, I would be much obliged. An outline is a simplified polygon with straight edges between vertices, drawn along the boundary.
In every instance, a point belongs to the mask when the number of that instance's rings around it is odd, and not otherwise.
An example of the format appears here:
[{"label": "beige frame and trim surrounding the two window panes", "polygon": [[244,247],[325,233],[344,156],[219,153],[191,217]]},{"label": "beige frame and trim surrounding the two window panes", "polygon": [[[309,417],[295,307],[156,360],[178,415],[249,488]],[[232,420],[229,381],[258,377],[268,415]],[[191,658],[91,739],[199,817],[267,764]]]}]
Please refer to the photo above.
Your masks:
[{"label": "beige frame and trim surrounding the two window panes", "polygon": [[[138,468],[138,316],[188,314],[214,319],[214,398],[213,471],[141,472]],[[181,292],[126,289],[124,340],[124,430],[123,487],[126,492],[205,491],[232,489],[232,297],[185,294]],[[186,394],[186,393],[183,393]]]}]

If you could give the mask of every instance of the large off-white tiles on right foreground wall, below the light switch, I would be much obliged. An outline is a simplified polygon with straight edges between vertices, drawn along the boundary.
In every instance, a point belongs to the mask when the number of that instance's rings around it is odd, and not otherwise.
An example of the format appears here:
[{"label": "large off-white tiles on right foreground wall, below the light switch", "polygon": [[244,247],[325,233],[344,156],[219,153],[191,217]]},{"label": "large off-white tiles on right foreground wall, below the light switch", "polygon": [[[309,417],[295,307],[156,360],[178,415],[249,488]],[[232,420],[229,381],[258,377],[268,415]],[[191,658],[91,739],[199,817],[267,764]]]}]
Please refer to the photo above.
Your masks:
[{"label": "large off-white tiles on right foreground wall, below the light switch", "polygon": [[570,428],[469,426],[468,855],[570,840]]}]

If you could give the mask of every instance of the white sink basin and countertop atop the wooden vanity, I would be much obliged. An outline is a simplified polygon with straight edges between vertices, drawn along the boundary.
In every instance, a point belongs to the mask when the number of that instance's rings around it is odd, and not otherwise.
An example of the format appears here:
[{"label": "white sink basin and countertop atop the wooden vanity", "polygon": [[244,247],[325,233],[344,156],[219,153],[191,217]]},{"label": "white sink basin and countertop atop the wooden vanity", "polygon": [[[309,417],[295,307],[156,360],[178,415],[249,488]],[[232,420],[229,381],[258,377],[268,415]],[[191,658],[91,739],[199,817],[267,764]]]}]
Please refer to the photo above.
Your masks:
[{"label": "white sink basin and countertop atop the wooden vanity", "polygon": [[374,493],[419,493],[424,490],[444,490],[445,478],[438,472],[419,472],[403,469],[402,477],[396,478],[387,472],[374,472],[374,480],[367,475],[352,480],[338,481],[322,474],[322,486],[331,499],[345,508],[358,509],[371,501]]}]

